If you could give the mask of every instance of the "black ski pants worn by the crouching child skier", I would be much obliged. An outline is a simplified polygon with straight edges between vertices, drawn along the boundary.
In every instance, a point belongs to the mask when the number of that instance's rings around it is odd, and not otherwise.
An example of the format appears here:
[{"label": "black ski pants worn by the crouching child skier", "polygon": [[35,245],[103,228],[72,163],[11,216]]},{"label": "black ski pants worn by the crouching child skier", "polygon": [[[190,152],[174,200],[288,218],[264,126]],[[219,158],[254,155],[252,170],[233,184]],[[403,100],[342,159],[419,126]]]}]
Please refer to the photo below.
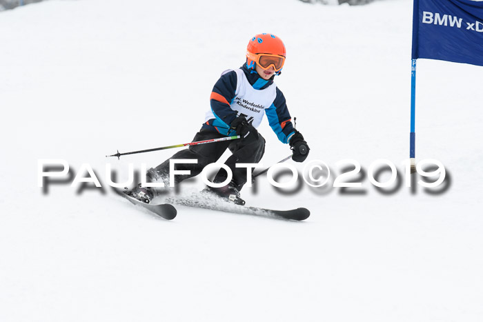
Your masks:
[{"label": "black ski pants worn by the crouching child skier", "polygon": [[[226,137],[226,135],[201,128],[192,142],[218,139],[221,137]],[[215,143],[190,145],[188,149],[177,152],[170,157],[170,159],[197,159],[198,162],[184,164],[177,163],[175,165],[175,170],[190,170],[190,174],[176,175],[175,183],[197,176],[206,165],[217,162],[226,149],[229,149],[233,154],[226,160],[225,164],[228,165],[233,174],[233,183],[237,185],[238,190],[241,190],[246,183],[246,168],[236,168],[235,164],[259,163],[265,152],[265,139],[261,134],[258,134],[258,139],[250,141],[235,139]],[[168,178],[170,159],[164,161],[156,168],[148,170],[148,177],[151,177],[154,180],[159,177],[165,179]],[[220,169],[213,181],[219,183],[225,181],[226,178],[226,170]]]}]

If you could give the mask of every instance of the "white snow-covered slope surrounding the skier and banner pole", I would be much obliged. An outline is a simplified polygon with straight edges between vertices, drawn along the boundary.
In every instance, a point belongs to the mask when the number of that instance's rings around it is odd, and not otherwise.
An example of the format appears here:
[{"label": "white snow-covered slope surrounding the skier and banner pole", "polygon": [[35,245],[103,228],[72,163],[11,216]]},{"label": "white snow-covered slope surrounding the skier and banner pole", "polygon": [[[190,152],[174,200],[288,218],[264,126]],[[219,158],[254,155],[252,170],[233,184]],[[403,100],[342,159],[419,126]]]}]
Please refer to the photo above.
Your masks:
[{"label": "white snow-covered slope surrounding the skier and banner pole", "polygon": [[[418,60],[416,157],[441,161],[451,184],[411,193],[411,3],[79,0],[1,12],[0,321],[483,321],[483,69]],[[367,173],[388,159],[402,186],[384,195],[364,174],[362,195],[306,183],[286,195],[266,177],[242,190],[248,205],[308,208],[304,222],[181,206],[166,221],[112,194],[107,162],[126,179],[128,163],[175,150],[105,155],[193,139],[219,75],[242,66],[260,32],[286,44],[276,83],[308,161],[337,176],[339,160]],[[264,165],[290,154],[268,122],[259,132]],[[106,193],[43,194],[38,159],[65,159],[73,174],[89,163]]]}]

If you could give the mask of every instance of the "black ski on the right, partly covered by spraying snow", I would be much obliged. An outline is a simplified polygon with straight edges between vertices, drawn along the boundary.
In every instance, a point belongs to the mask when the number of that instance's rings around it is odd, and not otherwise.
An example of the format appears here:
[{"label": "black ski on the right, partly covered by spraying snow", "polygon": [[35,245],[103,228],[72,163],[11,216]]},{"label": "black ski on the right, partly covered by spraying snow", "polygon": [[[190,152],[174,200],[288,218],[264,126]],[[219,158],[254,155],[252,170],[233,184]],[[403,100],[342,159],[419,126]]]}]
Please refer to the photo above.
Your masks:
[{"label": "black ski on the right, partly covered by spraying snow", "polygon": [[204,208],[210,210],[218,210],[223,212],[233,212],[236,214],[253,214],[263,217],[271,217],[278,219],[290,219],[302,221],[307,219],[311,212],[306,208],[297,208],[292,210],[273,210],[257,207],[246,207],[244,205],[235,205],[206,194],[193,194],[190,197],[168,197],[166,202],[175,203],[177,205],[185,205],[186,207]]}]

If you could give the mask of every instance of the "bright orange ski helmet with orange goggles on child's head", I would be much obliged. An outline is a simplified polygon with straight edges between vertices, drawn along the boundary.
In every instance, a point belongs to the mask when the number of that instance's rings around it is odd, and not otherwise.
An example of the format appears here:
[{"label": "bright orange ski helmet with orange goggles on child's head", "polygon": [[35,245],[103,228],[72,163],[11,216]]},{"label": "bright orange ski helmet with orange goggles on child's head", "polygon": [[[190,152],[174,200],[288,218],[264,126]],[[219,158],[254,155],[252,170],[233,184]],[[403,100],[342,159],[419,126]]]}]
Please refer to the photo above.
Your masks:
[{"label": "bright orange ski helmet with orange goggles on child's head", "polygon": [[274,34],[256,34],[246,46],[246,57],[248,69],[255,69],[255,64],[263,69],[273,66],[279,74],[286,57],[284,42]]}]

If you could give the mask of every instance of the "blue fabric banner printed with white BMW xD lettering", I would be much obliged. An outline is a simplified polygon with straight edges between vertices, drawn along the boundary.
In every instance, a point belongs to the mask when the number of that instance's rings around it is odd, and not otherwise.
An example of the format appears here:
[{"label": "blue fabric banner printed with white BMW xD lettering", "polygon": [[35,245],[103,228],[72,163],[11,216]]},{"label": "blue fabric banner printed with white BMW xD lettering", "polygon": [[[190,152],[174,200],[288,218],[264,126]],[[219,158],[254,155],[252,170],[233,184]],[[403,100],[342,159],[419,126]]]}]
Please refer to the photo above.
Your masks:
[{"label": "blue fabric banner printed with white BMW xD lettering", "polygon": [[483,2],[414,0],[412,58],[483,66]]}]

